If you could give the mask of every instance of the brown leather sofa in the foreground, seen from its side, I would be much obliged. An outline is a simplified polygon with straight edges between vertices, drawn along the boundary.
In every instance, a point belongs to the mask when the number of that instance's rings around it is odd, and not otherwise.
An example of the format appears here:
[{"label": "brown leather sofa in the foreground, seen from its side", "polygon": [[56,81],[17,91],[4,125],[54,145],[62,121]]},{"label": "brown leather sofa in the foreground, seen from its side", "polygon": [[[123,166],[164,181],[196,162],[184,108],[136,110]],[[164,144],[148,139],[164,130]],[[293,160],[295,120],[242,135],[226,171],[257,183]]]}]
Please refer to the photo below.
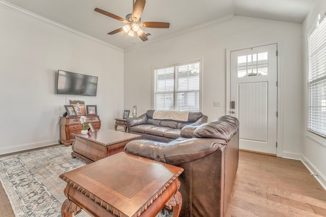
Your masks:
[{"label": "brown leather sofa in the foreground, seen from its side", "polygon": [[185,126],[169,143],[131,141],[125,151],[184,169],[180,216],[224,216],[238,167],[238,129],[236,118],[223,116]]}]

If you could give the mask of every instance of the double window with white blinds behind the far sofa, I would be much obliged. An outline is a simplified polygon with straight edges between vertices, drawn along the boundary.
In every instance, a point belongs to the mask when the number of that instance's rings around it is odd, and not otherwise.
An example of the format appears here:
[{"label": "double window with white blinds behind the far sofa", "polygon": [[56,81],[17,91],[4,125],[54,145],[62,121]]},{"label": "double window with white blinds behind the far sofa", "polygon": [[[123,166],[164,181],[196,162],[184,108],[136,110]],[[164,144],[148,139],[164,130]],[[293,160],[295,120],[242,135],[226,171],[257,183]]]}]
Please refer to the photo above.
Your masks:
[{"label": "double window with white blinds behind the far sofa", "polygon": [[199,111],[200,61],[154,69],[154,109]]}]

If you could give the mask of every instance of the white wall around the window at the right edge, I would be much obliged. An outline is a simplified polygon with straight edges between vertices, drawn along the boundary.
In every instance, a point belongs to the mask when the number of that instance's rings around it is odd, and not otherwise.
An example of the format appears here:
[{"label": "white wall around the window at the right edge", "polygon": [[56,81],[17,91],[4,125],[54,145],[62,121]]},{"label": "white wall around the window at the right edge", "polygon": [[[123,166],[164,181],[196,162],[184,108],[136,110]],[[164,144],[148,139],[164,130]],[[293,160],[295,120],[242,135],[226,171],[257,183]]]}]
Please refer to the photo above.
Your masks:
[{"label": "white wall around the window at the right edge", "polygon": [[[318,14],[324,14],[326,12],[326,2],[322,0],[316,1],[314,7],[310,10],[309,15],[306,17],[303,23],[303,34],[304,34],[304,63],[308,63],[307,57],[307,36],[309,31],[313,28],[313,23],[317,19]],[[303,86],[307,87],[308,78],[308,64],[304,64],[305,69],[305,79]],[[304,101],[305,114],[307,114],[307,96],[308,90],[305,89],[306,96]],[[308,167],[312,174],[318,175],[317,180],[326,189],[326,140],[322,139],[313,133],[307,132],[306,122],[304,122],[303,134],[305,134],[304,144],[303,144],[303,159],[302,161]],[[315,138],[311,139],[311,138]]]}]

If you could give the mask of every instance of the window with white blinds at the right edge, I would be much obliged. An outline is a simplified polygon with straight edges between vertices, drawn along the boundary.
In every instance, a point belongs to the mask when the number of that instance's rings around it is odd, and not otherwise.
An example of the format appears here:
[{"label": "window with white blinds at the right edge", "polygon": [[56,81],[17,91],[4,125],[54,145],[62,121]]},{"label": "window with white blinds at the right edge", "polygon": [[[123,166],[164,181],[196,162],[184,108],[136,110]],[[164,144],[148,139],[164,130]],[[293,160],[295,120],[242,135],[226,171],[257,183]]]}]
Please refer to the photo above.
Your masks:
[{"label": "window with white blinds at the right edge", "polygon": [[323,19],[308,37],[307,128],[326,138],[326,21]]}]

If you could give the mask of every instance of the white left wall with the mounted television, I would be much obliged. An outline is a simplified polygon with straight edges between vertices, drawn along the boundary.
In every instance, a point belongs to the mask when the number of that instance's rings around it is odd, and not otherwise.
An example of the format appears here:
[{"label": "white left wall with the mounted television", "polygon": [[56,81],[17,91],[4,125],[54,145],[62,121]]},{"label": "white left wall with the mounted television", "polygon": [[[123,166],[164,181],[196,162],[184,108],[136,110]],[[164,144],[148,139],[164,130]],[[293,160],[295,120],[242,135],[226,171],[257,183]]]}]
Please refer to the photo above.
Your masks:
[{"label": "white left wall with the mounted television", "polygon": [[[114,127],[123,113],[123,50],[1,6],[0,26],[0,154],[58,143],[69,99],[96,104],[101,128]],[[58,69],[98,76],[97,96],[55,94]]]}]

